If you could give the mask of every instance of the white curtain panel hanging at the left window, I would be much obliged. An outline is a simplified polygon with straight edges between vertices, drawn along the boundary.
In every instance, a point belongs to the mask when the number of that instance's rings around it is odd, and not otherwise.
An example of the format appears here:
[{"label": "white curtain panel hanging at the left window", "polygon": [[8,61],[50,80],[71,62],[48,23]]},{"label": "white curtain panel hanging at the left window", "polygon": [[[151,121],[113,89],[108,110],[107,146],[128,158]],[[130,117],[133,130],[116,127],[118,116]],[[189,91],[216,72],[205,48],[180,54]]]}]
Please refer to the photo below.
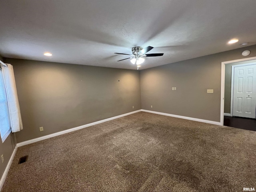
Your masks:
[{"label": "white curtain panel hanging at the left window", "polygon": [[2,73],[6,89],[12,132],[18,132],[23,129],[23,125],[12,65],[7,64],[7,67],[2,67]]}]

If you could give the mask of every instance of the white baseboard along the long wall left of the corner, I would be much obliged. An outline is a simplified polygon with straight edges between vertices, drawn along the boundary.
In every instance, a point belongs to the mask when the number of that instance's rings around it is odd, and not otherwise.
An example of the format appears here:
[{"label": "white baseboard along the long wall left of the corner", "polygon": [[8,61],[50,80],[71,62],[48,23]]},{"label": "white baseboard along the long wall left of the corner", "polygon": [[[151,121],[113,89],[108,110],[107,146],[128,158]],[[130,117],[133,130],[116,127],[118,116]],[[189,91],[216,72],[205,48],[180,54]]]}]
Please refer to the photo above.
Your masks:
[{"label": "white baseboard along the long wall left of the corner", "polygon": [[53,134],[50,134],[50,135],[46,135],[46,136],[38,137],[38,138],[35,138],[35,139],[31,139],[31,140],[28,140],[28,141],[20,142],[20,143],[17,143],[16,146],[20,147],[20,146],[28,145],[28,144],[31,144],[31,143],[34,143],[34,142],[38,142],[38,141],[45,140],[45,139],[48,139],[48,138],[52,138],[52,137],[55,137],[55,136],[58,136],[58,135],[62,135],[62,134],[65,134],[65,133],[69,133],[69,132],[72,132],[72,131],[76,131],[76,130],[79,130],[79,129],[90,127],[90,126],[93,126],[93,125],[96,125],[96,124],[100,124],[100,123],[103,123],[103,122],[106,122],[106,121],[110,121],[110,120],[113,120],[113,119],[124,117],[124,116],[130,115],[130,114],[138,113],[140,111],[141,110],[136,110],[136,111],[129,112],[129,113],[126,113],[126,114],[110,117],[110,118],[103,119],[103,120],[100,120],[100,121],[96,121],[96,122],[92,122],[92,123],[89,123],[89,124],[81,125],[81,126],[78,126],[78,127],[75,127],[75,128],[71,128],[71,129],[67,129],[67,130],[64,130],[64,131],[56,132],[56,133],[53,133]]}]

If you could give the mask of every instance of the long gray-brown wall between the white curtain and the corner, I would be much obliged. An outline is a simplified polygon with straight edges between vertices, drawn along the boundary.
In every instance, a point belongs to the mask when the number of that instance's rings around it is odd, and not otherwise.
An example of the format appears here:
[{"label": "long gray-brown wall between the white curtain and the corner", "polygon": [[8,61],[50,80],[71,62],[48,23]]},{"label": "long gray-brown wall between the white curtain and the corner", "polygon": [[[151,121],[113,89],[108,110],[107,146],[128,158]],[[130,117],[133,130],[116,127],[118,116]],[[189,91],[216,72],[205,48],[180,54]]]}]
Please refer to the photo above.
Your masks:
[{"label": "long gray-brown wall between the white curtain and the corner", "polygon": [[14,67],[24,126],[16,133],[17,142],[141,109],[137,70],[9,58],[5,62]]}]

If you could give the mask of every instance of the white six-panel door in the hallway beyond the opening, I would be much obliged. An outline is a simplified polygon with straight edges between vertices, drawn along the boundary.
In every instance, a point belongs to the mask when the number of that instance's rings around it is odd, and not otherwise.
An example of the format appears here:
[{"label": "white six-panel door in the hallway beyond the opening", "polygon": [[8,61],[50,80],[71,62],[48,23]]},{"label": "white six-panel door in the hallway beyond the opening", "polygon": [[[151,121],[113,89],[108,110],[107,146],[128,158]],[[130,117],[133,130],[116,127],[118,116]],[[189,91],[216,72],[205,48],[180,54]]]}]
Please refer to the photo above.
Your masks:
[{"label": "white six-panel door in the hallway beyond the opening", "polygon": [[234,67],[233,116],[256,118],[256,65]]}]

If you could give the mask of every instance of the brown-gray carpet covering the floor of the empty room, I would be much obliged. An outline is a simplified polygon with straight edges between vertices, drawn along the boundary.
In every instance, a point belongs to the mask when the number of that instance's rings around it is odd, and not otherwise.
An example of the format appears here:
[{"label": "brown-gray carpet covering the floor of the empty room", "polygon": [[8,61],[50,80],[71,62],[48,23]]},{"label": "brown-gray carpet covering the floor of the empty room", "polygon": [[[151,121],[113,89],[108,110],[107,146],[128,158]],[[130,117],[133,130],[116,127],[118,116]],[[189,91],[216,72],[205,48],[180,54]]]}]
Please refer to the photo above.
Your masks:
[{"label": "brown-gray carpet covering the floor of the empty room", "polygon": [[256,132],[139,112],[19,147],[2,192],[244,187],[256,187]]}]

